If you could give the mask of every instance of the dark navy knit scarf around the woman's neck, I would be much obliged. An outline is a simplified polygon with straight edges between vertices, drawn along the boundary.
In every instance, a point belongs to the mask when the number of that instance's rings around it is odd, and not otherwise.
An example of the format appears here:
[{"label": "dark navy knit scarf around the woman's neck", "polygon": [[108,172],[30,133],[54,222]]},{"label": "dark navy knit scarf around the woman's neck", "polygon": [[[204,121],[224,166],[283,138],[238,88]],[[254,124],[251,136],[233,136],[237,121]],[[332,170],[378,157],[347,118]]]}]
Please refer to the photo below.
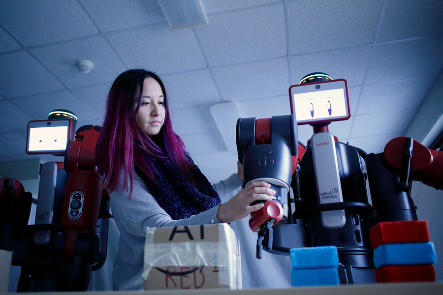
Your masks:
[{"label": "dark navy knit scarf around the woman's neck", "polygon": [[[186,158],[193,164],[189,155]],[[147,158],[157,183],[148,178],[139,167],[137,175],[150,193],[173,220],[184,219],[206,211],[221,203],[220,197],[200,169],[192,170],[195,186],[180,173],[170,159]]]}]

